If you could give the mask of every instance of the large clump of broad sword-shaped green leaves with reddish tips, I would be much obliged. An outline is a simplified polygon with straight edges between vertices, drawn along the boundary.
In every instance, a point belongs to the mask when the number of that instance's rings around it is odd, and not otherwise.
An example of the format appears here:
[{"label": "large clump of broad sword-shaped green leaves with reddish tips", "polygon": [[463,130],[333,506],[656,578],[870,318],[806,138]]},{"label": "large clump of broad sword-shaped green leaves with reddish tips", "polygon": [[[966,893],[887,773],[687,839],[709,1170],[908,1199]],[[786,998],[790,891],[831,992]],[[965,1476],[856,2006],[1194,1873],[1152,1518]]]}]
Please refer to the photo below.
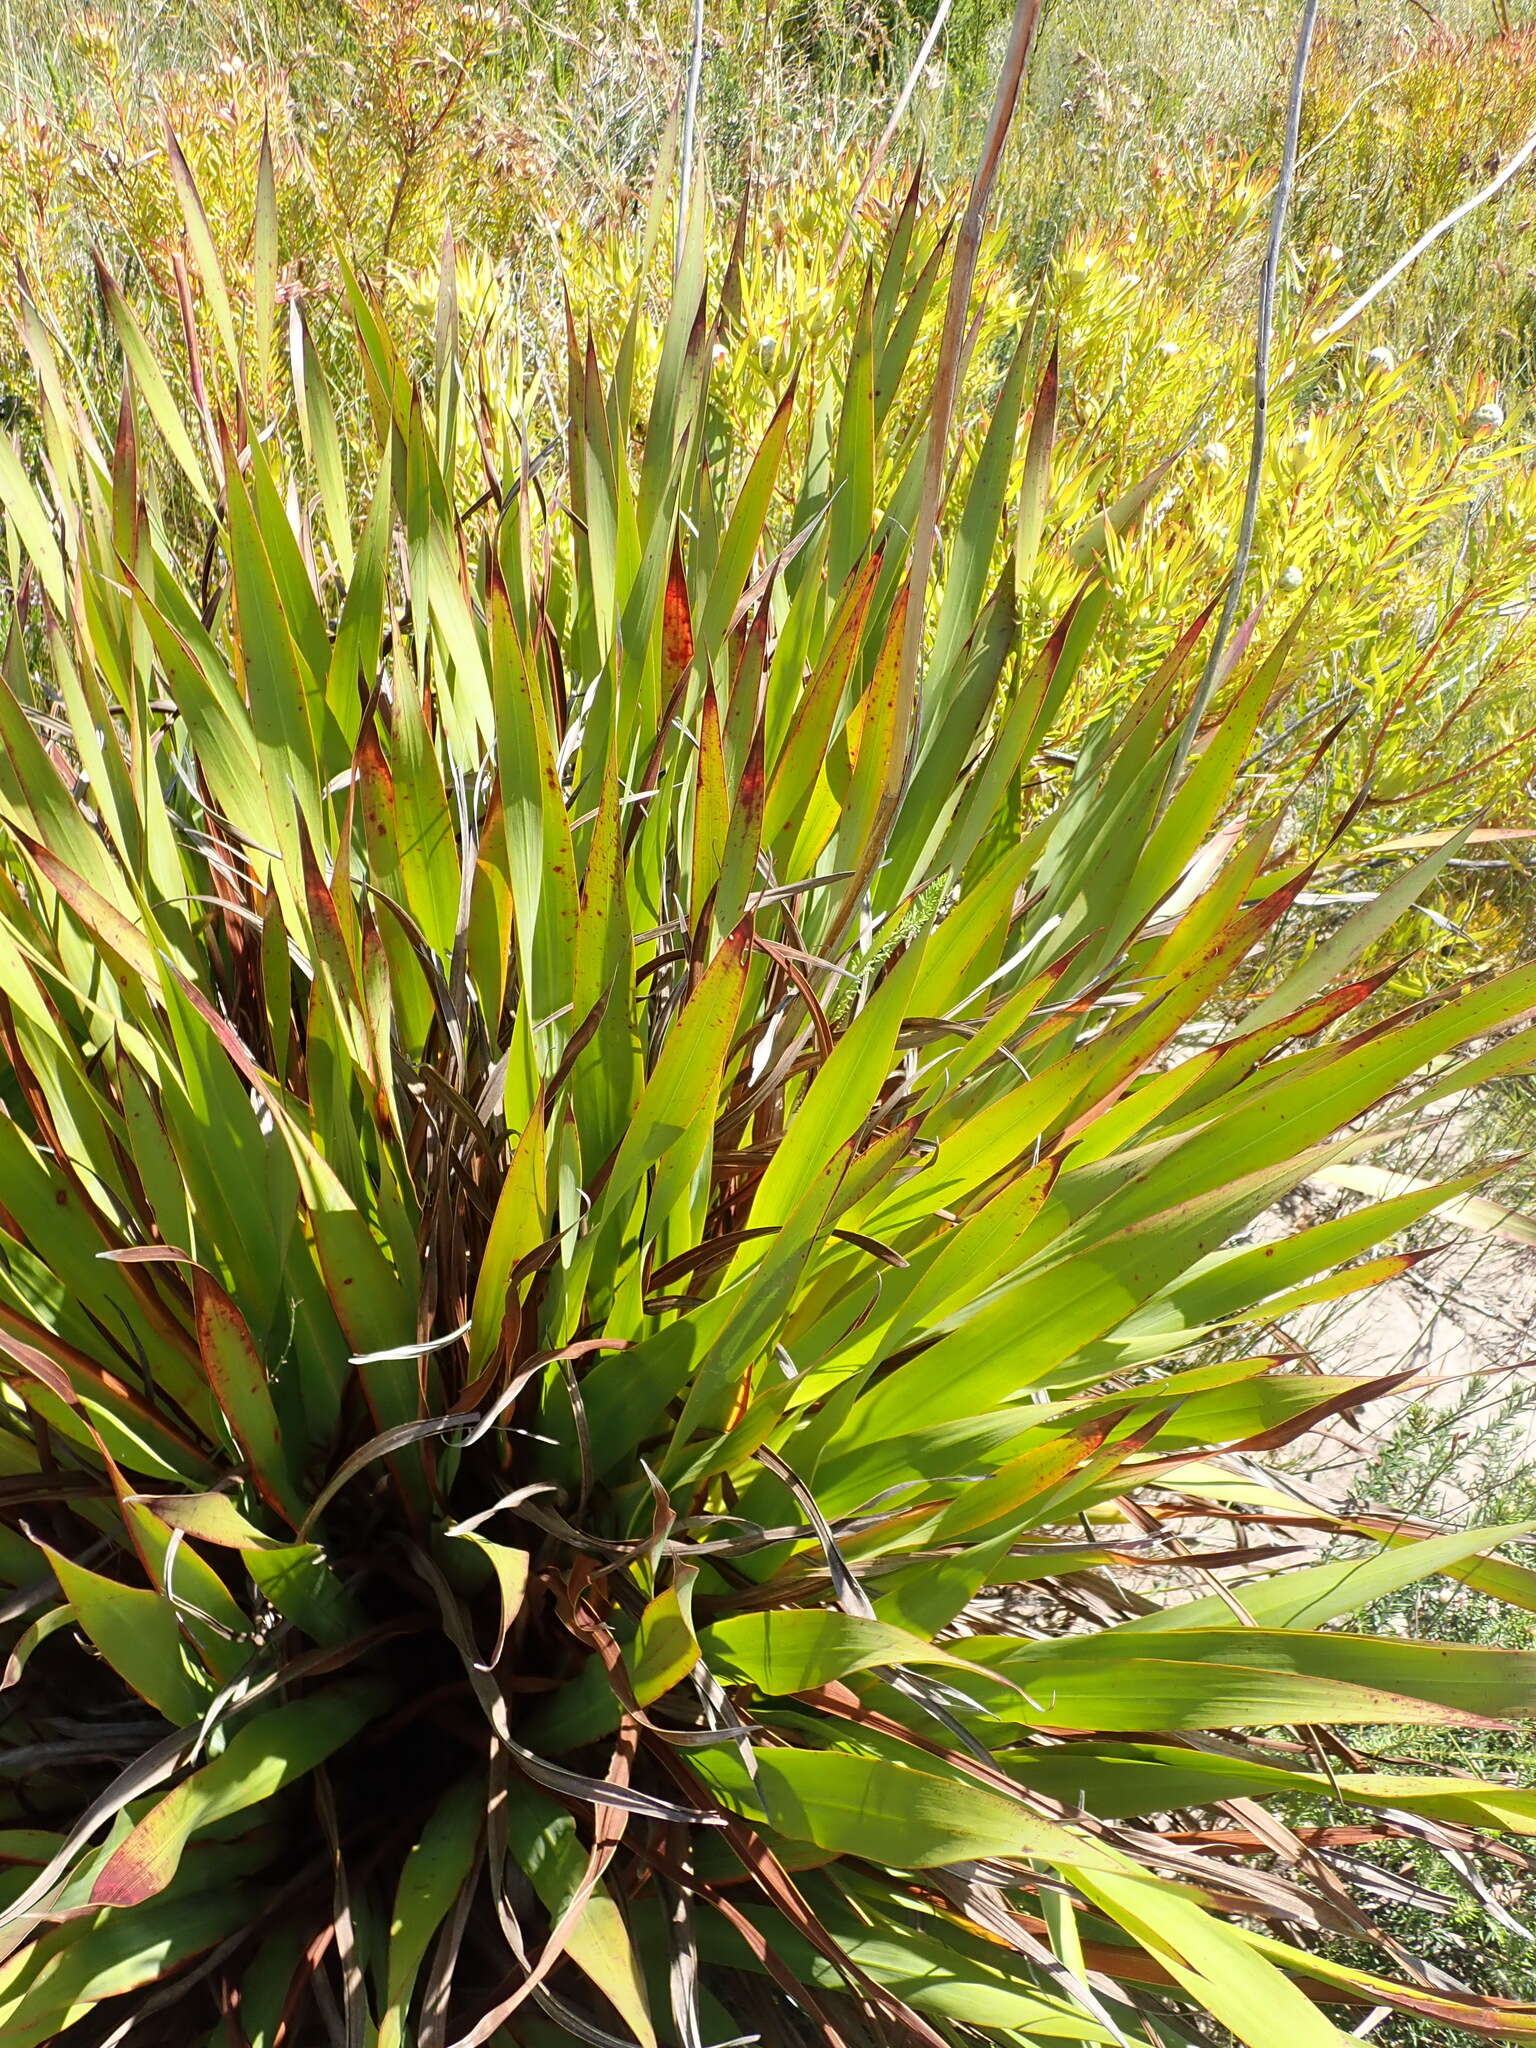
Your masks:
[{"label": "large clump of broad sword-shaped green leaves with reddish tips", "polygon": [[[1323,1628],[1434,1571],[1536,1606],[1518,1532],[1266,1577],[1307,1518],[1214,1458],[1378,1391],[1231,1337],[1442,1190],[1223,1247],[1386,1098],[1528,1067],[1536,969],[1352,1030],[1405,889],[1190,1034],[1309,874],[1227,815],[1290,643],[1169,786],[1190,618],[1040,809],[1147,487],[1024,645],[1020,346],[913,592],[915,195],[752,451],[698,211],[649,395],[641,303],[608,373],[571,330],[563,465],[451,289],[418,383],[348,272],[352,502],[297,313],[274,389],[270,180],[250,315],[180,186],[186,408],[102,272],[121,403],[20,293],[0,442],[8,2048],[1536,2040],[1329,1960],[1370,1923],[1284,1821],[1536,1833],[1339,1733],[1524,1712],[1532,1657]],[[956,1628],[1010,1583],[1028,1628]]]}]

